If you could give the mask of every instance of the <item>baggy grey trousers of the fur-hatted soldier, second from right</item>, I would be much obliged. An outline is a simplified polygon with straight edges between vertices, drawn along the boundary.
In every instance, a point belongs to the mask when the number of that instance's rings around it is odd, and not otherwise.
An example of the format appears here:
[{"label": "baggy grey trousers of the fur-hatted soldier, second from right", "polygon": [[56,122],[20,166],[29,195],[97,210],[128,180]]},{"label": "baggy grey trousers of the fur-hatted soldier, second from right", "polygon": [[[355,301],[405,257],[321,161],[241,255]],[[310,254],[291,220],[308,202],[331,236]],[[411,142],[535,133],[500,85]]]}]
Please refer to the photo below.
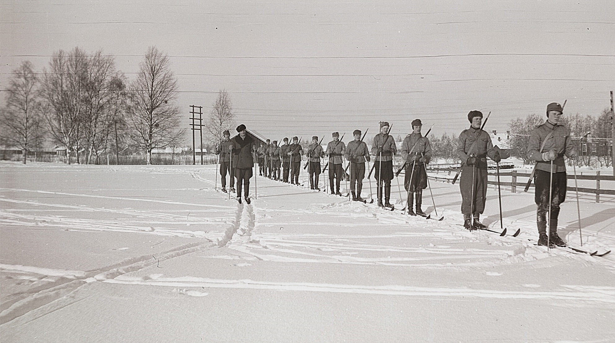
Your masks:
[{"label": "baggy grey trousers of the fur-hatted soldier, second from right", "polygon": [[[474,184],[472,182],[474,180]],[[487,169],[463,166],[459,179],[461,190],[461,213],[482,214],[487,201]],[[474,190],[474,191],[472,191]]]}]

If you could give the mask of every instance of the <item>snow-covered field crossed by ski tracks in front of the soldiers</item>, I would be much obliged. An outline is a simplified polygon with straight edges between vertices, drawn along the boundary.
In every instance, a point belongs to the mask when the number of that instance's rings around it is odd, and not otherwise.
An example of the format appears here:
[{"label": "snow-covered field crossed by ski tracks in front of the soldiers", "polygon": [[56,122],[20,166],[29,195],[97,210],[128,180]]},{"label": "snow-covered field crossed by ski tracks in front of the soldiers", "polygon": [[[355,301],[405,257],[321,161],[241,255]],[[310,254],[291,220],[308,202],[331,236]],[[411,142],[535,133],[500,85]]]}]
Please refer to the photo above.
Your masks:
[{"label": "snow-covered field crossed by ski tracks in front of the soldiers", "polygon": [[[214,168],[0,164],[2,342],[615,341],[615,253],[528,241],[531,191],[502,191],[522,234],[499,237],[462,228],[450,183],[431,182],[438,222],[263,177],[237,204]],[[615,197],[594,199],[583,249],[602,253]],[[499,230],[493,187],[483,223]]]}]

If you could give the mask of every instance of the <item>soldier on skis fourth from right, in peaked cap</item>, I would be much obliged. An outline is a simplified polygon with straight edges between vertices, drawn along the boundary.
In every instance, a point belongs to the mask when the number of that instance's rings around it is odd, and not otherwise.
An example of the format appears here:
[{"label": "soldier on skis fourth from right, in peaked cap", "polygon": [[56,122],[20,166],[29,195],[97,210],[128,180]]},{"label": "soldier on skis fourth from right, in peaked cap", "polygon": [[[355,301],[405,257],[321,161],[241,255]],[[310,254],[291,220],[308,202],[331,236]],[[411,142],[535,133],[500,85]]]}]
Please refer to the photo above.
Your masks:
[{"label": "soldier on skis fourth from right, in peaked cap", "polygon": [[[371,141],[371,154],[374,155],[374,177],[378,181],[378,206],[393,207],[391,199],[391,180],[393,179],[393,154],[397,153],[395,139],[389,136],[389,123],[381,121],[380,133]],[[383,203],[384,188],[384,203]]]}]

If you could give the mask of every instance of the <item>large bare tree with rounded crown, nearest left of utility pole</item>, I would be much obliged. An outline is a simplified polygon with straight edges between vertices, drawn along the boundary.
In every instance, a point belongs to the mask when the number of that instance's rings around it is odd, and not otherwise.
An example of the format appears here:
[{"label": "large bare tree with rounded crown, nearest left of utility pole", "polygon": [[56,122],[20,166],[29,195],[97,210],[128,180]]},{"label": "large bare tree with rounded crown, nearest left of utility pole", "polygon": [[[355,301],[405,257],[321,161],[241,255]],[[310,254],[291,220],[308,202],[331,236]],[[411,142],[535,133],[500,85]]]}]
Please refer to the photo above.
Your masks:
[{"label": "large bare tree with rounded crown, nearest left of utility pole", "polygon": [[175,106],[177,80],[169,65],[169,56],[149,47],[130,96],[130,139],[147,152],[147,164],[151,164],[152,149],[165,148],[185,133],[179,129],[179,109]]}]

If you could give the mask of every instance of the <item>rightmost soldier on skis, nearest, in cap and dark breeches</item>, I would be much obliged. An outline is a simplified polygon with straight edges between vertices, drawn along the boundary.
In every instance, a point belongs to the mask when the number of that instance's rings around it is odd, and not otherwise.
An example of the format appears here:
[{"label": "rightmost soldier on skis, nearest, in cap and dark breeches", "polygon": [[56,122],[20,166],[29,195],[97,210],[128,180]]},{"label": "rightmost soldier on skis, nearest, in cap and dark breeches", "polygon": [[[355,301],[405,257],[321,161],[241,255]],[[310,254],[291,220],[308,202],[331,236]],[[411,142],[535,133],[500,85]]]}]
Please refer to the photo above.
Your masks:
[{"label": "rightmost soldier on skis, nearest, in cap and dark breeches", "polygon": [[[536,161],[534,202],[538,244],[565,247],[566,243],[557,234],[557,218],[560,204],[566,199],[566,164],[563,156],[576,158],[577,152],[570,138],[570,130],[560,125],[563,108],[557,102],[547,105],[547,120],[536,127],[528,141],[528,157]],[[549,214],[549,236],[547,237],[547,213],[549,213],[549,190],[551,206]]]}]

